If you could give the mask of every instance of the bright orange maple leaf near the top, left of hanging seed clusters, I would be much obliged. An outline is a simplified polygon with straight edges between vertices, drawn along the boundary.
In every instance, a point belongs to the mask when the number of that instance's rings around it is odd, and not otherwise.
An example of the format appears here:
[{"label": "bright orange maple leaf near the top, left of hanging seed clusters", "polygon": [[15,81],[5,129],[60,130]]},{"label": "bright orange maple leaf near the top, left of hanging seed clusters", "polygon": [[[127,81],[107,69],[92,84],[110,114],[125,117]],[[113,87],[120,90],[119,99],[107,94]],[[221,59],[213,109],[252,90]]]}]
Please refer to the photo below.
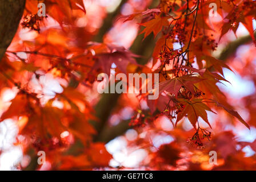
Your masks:
[{"label": "bright orange maple leaf near the top, left of hanging seed clusters", "polygon": [[169,26],[169,16],[162,16],[161,14],[155,15],[155,19],[150,20],[149,22],[142,23],[141,25],[146,27],[141,34],[145,33],[144,39],[151,33],[154,33],[156,36],[161,30],[163,26]]}]

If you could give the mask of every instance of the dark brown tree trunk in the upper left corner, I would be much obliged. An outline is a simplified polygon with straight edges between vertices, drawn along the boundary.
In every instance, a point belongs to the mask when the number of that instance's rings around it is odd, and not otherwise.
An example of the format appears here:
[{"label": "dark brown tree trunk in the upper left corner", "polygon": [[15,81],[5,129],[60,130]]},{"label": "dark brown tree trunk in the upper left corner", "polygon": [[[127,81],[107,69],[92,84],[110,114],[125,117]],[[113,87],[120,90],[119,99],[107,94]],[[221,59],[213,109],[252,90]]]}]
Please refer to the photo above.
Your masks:
[{"label": "dark brown tree trunk in the upper left corner", "polygon": [[25,3],[26,0],[0,0],[0,60],[17,32]]}]

